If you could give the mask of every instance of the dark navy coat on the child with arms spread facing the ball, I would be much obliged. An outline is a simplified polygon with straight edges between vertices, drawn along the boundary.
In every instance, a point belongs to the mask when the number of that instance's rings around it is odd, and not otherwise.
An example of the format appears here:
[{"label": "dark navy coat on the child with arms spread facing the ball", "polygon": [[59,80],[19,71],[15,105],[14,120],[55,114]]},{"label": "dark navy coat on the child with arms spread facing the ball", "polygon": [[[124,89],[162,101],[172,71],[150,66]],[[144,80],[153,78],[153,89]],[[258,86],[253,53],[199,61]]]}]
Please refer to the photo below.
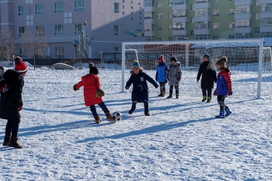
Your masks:
[{"label": "dark navy coat on the child with arms spread facing the ball", "polygon": [[126,82],[125,87],[129,87],[133,83],[131,95],[132,101],[141,102],[149,99],[147,80],[156,88],[159,87],[156,81],[145,72],[142,72],[141,69],[138,74],[134,74],[133,71],[131,71],[130,78]]}]

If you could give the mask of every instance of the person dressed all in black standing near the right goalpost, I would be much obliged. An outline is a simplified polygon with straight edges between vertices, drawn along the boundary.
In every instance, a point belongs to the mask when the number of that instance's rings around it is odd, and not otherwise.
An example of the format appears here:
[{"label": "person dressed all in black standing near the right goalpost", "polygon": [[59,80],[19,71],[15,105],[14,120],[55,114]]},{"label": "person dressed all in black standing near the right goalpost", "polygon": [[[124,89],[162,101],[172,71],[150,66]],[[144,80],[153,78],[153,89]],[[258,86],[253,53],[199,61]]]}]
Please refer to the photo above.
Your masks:
[{"label": "person dressed all in black standing near the right goalpost", "polygon": [[202,102],[207,100],[207,103],[210,103],[212,100],[212,89],[214,88],[214,82],[217,81],[216,71],[213,63],[210,61],[210,55],[203,55],[203,63],[200,64],[196,81],[198,82],[201,78],[201,89],[203,99]]}]

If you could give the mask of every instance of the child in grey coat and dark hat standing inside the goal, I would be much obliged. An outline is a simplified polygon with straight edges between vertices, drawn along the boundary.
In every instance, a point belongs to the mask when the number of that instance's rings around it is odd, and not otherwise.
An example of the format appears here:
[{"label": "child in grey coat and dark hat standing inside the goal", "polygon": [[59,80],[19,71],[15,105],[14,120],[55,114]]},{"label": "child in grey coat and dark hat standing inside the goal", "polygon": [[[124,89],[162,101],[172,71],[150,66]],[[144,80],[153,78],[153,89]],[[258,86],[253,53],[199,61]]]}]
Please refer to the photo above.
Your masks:
[{"label": "child in grey coat and dark hat standing inside the goal", "polygon": [[181,79],[181,63],[177,62],[176,57],[171,57],[171,64],[169,66],[169,69],[165,68],[166,73],[168,73],[168,79],[169,79],[169,96],[167,99],[172,99],[173,95],[173,89],[175,87],[176,91],[176,99],[179,99],[179,82]]}]

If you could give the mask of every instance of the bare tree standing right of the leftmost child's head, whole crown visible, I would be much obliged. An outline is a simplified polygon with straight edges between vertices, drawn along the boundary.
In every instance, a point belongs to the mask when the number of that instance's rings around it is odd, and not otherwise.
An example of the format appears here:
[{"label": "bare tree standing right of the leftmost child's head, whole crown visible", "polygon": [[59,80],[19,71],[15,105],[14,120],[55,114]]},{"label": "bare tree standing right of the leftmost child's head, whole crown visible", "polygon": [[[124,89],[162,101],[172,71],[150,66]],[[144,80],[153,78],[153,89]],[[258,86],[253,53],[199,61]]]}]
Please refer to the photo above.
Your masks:
[{"label": "bare tree standing right of the leftmost child's head, whole crown visible", "polygon": [[44,36],[44,33],[32,33],[26,32],[20,39],[20,46],[26,48],[29,55],[34,59],[34,70],[36,70],[36,57],[43,57],[45,55],[45,49],[48,45],[48,41]]}]

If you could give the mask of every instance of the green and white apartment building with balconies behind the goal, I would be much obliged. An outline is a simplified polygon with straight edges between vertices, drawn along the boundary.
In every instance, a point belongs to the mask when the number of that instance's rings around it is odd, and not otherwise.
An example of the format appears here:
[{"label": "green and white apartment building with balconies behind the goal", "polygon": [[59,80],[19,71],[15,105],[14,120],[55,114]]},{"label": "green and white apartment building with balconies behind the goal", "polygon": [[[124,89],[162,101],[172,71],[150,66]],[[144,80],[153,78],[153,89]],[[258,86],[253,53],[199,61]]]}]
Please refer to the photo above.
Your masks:
[{"label": "green and white apartment building with balconies behind the goal", "polygon": [[272,2],[145,0],[145,41],[176,41],[184,38],[271,39]]}]

